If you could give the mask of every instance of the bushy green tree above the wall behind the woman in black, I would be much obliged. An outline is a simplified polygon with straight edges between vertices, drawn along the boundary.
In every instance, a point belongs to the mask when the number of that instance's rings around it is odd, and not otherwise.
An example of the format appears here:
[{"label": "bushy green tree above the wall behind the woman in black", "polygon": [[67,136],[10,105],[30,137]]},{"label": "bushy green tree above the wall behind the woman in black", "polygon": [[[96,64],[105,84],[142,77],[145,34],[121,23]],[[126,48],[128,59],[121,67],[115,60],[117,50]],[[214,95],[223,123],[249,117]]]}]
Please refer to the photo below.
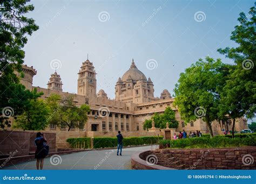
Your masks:
[{"label": "bushy green tree above the wall behind the woman in black", "polygon": [[48,126],[49,107],[42,99],[31,100],[29,107],[15,121],[14,128],[44,130]]}]

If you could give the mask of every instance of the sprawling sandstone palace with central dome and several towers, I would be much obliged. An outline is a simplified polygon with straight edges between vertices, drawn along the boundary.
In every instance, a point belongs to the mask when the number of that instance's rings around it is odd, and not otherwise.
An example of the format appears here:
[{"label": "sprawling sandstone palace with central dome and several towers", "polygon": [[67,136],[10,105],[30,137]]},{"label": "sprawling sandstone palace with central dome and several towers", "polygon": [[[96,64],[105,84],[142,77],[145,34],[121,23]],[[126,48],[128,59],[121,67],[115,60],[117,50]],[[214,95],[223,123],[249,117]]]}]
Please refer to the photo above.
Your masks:
[{"label": "sprawling sandstone palace with central dome and several towers", "polygon": [[[24,65],[23,73],[24,77],[21,79],[21,83],[27,89],[33,90],[36,88],[38,92],[43,91],[42,98],[44,99],[52,93],[62,97],[71,95],[62,91],[63,83],[57,72],[51,74],[47,89],[32,86],[33,76],[37,74],[33,67]],[[155,97],[152,80],[150,77],[146,78],[133,60],[130,68],[122,77],[117,79],[114,87],[116,95],[114,100],[110,100],[103,89],[100,89],[97,93],[96,87],[96,69],[92,62],[86,60],[78,71],[77,94],[75,94],[74,103],[78,106],[84,103],[90,105],[91,111],[88,114],[87,123],[84,127],[71,128],[70,131],[65,126],[57,127],[50,124],[45,131],[55,131],[57,133],[57,139],[59,139],[57,144],[62,140],[62,144],[65,144],[65,140],[68,137],[113,137],[118,130],[121,130],[126,137],[162,135],[163,132],[160,130],[143,130],[143,123],[145,119],[151,118],[154,112],[163,113],[166,107],[171,107],[176,112],[176,119],[179,122],[179,127],[176,129],[177,132],[184,129],[187,132],[199,130],[203,133],[208,133],[206,123],[202,119],[185,125],[180,118],[178,109],[173,107],[175,98],[172,98],[168,90],[164,89],[160,97]],[[107,116],[102,115],[101,112],[104,111],[109,112]],[[212,122],[214,134],[222,133],[221,130],[223,129],[231,130],[231,123],[231,121]],[[246,128],[246,120],[244,118],[237,119],[235,131],[241,131]]]}]

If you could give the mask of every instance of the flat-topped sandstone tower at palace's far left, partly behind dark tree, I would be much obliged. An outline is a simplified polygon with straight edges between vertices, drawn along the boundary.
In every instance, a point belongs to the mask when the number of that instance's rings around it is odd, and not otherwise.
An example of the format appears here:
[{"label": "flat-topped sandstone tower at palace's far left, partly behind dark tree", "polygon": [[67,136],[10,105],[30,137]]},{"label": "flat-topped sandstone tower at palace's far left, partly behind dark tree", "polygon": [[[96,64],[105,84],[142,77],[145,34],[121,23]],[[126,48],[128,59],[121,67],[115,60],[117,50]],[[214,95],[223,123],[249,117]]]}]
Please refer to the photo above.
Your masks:
[{"label": "flat-topped sandstone tower at palace's far left, partly behind dark tree", "polygon": [[26,87],[26,89],[32,90],[33,76],[36,75],[37,71],[33,66],[28,67],[27,65],[22,65],[22,72],[24,77],[21,77],[21,74],[15,71],[15,74],[19,77],[20,82]]}]

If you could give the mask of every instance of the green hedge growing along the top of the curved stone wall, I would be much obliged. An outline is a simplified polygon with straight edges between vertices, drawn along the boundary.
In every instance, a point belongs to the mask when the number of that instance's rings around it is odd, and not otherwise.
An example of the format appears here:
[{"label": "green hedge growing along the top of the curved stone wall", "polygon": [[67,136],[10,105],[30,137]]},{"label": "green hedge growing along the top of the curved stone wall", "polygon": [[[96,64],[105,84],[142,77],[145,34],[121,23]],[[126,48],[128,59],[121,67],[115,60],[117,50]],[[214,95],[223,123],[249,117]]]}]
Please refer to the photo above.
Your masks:
[{"label": "green hedge growing along the top of the curved stone wall", "polygon": [[160,140],[161,148],[211,148],[211,147],[240,147],[240,146],[256,146],[256,136],[251,137],[235,137],[233,139],[225,136],[196,137],[177,140]]}]

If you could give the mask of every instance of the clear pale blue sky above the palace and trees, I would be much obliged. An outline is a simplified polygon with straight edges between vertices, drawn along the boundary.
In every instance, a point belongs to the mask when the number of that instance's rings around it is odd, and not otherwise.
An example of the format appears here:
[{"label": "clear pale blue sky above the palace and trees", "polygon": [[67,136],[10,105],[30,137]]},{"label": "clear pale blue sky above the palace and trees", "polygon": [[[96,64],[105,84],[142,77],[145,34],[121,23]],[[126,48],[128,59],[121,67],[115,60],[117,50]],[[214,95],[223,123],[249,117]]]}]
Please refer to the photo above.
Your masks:
[{"label": "clear pale blue sky above the palace and trees", "polygon": [[[35,10],[28,16],[40,27],[25,46],[25,63],[37,69],[33,86],[46,88],[54,72],[50,63],[57,59],[62,63],[57,72],[62,77],[63,90],[77,93],[77,73],[88,53],[97,72],[97,91],[102,88],[114,98],[114,85],[129,69],[132,58],[146,77],[151,77],[155,96],[160,96],[163,89],[173,94],[179,74],[206,55],[232,63],[216,50],[235,46],[230,34],[238,24],[239,13],[244,11],[247,15],[254,1],[31,3]],[[200,15],[199,19],[194,18],[196,12],[204,13],[203,21],[200,22]],[[157,68],[146,67],[150,59],[157,61]]]}]

